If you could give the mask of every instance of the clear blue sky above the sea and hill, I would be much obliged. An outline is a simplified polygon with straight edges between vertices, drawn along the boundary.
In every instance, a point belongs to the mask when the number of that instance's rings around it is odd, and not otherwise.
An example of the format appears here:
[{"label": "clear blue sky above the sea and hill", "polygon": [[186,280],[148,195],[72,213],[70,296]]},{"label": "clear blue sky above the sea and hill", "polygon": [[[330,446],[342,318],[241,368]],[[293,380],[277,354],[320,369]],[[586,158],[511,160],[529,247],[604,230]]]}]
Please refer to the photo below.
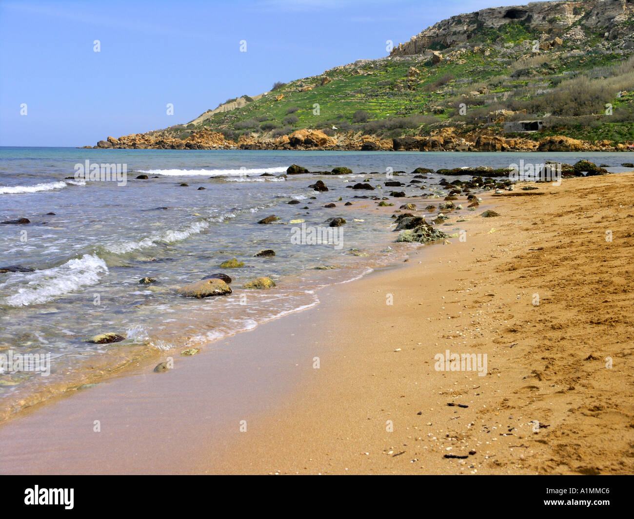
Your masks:
[{"label": "clear blue sky above the sea and hill", "polygon": [[449,16],[521,3],[0,0],[0,146],[94,146],[187,123],[276,81],[387,56],[388,40]]}]

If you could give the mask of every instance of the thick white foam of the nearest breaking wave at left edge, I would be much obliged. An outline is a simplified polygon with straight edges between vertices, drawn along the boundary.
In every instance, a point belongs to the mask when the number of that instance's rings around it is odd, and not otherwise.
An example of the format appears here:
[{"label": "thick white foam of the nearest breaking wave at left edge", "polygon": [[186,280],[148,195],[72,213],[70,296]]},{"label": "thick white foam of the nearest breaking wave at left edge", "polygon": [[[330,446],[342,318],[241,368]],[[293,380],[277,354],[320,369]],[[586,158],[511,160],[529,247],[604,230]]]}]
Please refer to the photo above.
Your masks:
[{"label": "thick white foam of the nearest breaking wave at left edge", "polygon": [[0,291],[12,293],[3,300],[10,306],[47,303],[84,286],[96,285],[100,274],[105,272],[108,267],[100,257],[84,254],[59,267],[10,274],[8,281],[0,285]]}]

